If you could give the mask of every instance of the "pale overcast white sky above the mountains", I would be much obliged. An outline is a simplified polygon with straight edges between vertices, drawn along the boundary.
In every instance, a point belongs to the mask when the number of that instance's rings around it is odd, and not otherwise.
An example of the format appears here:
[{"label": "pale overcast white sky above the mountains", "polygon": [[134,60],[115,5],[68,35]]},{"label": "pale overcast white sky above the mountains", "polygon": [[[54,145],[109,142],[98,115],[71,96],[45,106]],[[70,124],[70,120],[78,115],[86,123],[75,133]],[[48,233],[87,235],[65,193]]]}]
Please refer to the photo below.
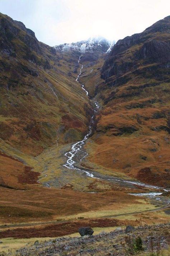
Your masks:
[{"label": "pale overcast white sky above the mountains", "polygon": [[54,46],[91,36],[122,39],[170,15],[169,0],[0,0],[0,12]]}]

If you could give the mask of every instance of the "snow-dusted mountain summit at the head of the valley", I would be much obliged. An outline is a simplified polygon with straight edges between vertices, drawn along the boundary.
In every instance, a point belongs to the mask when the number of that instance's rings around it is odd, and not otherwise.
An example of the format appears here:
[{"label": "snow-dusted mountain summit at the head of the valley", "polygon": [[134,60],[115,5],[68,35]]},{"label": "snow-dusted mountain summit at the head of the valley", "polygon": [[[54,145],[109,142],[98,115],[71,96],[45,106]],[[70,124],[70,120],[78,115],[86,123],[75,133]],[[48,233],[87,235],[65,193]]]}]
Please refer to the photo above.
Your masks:
[{"label": "snow-dusted mountain summit at the head of the valley", "polygon": [[79,51],[79,53],[109,53],[115,41],[108,41],[103,37],[90,38],[71,44],[56,45],[54,48],[61,51]]}]

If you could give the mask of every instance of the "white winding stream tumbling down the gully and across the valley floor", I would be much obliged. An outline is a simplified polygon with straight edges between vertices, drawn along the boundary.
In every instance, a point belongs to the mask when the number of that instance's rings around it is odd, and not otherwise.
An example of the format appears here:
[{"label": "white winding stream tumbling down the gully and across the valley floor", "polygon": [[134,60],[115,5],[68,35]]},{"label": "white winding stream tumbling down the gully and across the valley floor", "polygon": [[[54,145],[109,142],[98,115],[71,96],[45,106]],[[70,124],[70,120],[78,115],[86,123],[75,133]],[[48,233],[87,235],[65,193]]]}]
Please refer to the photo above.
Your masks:
[{"label": "white winding stream tumbling down the gully and across the valley floor", "polygon": [[[81,58],[81,56],[79,57],[78,63],[80,63],[80,58]],[[80,73],[76,78],[77,82],[79,82],[79,77],[81,76],[82,69],[83,69],[83,65],[81,66]],[[86,95],[88,95],[88,91],[84,88],[83,84],[81,84],[81,88],[85,91]],[[95,107],[94,107],[94,111],[93,111],[93,116],[91,117],[91,120],[90,120],[89,131],[81,141],[76,142],[72,145],[71,151],[65,153],[65,156],[67,157],[67,162],[63,166],[65,166],[66,168],[71,169],[71,170],[77,170],[77,171],[85,172],[85,174],[87,176],[91,177],[91,178],[103,179],[103,178],[100,178],[100,176],[97,177],[98,175],[95,175],[93,172],[89,172],[86,169],[80,169],[80,168],[75,166],[76,164],[81,162],[83,158],[88,156],[88,153],[85,152],[84,149],[82,150],[82,147],[86,143],[86,140],[92,134],[93,124],[94,124],[94,121],[95,121],[95,115],[96,115],[96,113],[98,112],[98,109],[99,109],[99,103],[94,101],[94,104],[95,104]],[[157,186],[154,186],[154,185],[145,184],[145,183],[138,182],[138,181],[129,181],[129,180],[117,179],[117,178],[112,178],[112,179],[111,178],[110,179],[105,178],[104,180],[117,181],[117,182],[121,182],[121,183],[123,182],[125,184],[131,184],[131,185],[138,185],[138,186],[145,187],[145,188],[148,188],[148,189],[155,189],[155,190],[160,190],[160,191],[161,190],[169,191],[169,189],[165,189],[165,188],[162,188],[162,187],[157,187]],[[151,193],[136,193],[134,195],[136,195],[136,196],[146,196],[146,197],[153,198],[153,197],[160,196],[160,194],[161,193],[151,192]],[[162,197],[157,197],[157,200],[161,201],[161,198]],[[166,203],[170,203],[170,202],[166,201]]]}]

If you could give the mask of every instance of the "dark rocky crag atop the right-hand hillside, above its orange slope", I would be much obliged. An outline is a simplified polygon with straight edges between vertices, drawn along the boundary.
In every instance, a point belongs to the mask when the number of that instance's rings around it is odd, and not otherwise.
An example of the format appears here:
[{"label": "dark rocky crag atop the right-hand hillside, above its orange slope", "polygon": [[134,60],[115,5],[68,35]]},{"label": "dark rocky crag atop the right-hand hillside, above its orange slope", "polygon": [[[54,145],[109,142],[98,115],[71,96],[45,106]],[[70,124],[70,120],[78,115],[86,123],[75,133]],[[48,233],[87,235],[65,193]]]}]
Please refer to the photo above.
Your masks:
[{"label": "dark rocky crag atop the right-hand hillside, above its orange slope", "polygon": [[156,22],[142,33],[119,40],[101,69],[101,78],[110,82],[145,64],[169,67],[170,62],[170,16]]}]

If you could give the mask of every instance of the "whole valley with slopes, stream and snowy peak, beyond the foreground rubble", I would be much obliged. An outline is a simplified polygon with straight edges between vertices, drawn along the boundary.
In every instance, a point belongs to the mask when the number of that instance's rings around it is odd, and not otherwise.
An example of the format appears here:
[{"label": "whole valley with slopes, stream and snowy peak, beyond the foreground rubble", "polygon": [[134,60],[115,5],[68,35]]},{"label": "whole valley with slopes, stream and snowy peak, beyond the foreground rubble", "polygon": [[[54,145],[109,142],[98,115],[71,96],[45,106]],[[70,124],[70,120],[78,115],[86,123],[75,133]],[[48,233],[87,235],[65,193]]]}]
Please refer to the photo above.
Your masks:
[{"label": "whole valley with slopes, stream and snowy peak, beyond the foreground rubble", "polygon": [[0,26],[0,238],[167,223],[170,16],[116,44]]}]

